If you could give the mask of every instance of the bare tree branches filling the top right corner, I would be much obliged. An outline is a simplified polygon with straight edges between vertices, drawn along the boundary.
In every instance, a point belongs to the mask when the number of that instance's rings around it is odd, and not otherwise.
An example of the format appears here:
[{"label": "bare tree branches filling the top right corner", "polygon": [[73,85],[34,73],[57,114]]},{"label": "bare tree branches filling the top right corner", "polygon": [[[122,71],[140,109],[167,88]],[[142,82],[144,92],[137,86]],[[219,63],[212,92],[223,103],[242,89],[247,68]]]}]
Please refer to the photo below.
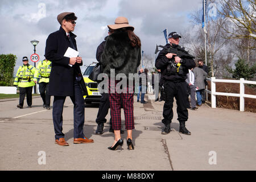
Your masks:
[{"label": "bare tree branches filling the top right corner", "polygon": [[237,57],[255,62],[256,46],[256,2],[255,0],[223,0],[218,2],[218,14],[224,23],[219,24],[226,34],[224,39],[231,39],[237,47]]}]

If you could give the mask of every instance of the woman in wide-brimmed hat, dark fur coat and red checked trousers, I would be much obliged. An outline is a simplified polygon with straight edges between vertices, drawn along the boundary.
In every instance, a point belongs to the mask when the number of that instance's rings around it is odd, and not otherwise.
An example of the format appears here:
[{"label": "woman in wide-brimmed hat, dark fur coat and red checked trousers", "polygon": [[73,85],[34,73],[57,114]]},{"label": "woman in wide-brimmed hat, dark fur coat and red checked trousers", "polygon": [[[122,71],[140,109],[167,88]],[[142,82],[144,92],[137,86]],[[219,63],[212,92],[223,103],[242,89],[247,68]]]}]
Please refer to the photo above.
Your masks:
[{"label": "woman in wide-brimmed hat, dark fur coat and red checked trousers", "polygon": [[[141,64],[141,40],[134,34],[134,27],[129,25],[127,18],[118,17],[115,24],[108,25],[109,31],[112,32],[106,40],[104,52],[102,53],[103,72],[117,76],[122,73],[127,78],[126,84],[129,83],[129,73],[136,74],[137,68]],[[121,74],[119,74],[121,75]],[[115,78],[109,79],[109,101],[111,109],[111,117],[114,130],[114,143],[109,150],[117,150],[123,144],[121,138],[121,101],[123,102],[123,110],[125,113],[125,127],[127,130],[127,146],[128,149],[134,150],[132,142],[132,130],[134,129],[133,114],[133,86],[122,85],[122,92],[117,92],[115,87],[118,82]],[[123,80],[122,80],[123,81]],[[118,86],[117,86],[118,88]],[[122,98],[122,100],[121,100]]]}]

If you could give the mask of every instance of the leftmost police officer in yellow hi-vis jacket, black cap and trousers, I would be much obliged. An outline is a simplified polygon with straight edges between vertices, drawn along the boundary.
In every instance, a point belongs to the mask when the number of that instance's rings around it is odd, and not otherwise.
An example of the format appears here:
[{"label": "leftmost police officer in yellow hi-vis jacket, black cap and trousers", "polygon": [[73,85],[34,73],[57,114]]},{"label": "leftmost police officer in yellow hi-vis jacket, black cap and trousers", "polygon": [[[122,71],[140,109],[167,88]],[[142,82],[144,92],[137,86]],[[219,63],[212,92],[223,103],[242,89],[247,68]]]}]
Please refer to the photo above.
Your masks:
[{"label": "leftmost police officer in yellow hi-vis jacket, black cap and trousers", "polygon": [[27,105],[31,108],[32,105],[32,89],[35,85],[33,81],[36,68],[28,64],[27,56],[22,58],[23,65],[21,65],[16,73],[14,79],[14,86],[19,87],[19,104],[17,107],[23,109],[24,98],[27,95]]}]

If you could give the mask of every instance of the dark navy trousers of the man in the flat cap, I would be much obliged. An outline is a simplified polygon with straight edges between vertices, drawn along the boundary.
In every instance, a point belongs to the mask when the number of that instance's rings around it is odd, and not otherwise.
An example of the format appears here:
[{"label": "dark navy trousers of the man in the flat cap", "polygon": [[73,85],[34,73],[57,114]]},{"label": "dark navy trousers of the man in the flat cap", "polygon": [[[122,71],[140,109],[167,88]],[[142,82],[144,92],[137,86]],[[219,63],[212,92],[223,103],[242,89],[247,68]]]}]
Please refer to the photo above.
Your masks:
[{"label": "dark navy trousers of the man in the flat cap", "polygon": [[[79,83],[74,80],[73,83],[74,96],[70,96],[74,104],[74,138],[84,137],[84,97]],[[64,138],[62,132],[63,125],[63,106],[66,96],[54,96],[52,118],[55,130],[55,139]]]}]

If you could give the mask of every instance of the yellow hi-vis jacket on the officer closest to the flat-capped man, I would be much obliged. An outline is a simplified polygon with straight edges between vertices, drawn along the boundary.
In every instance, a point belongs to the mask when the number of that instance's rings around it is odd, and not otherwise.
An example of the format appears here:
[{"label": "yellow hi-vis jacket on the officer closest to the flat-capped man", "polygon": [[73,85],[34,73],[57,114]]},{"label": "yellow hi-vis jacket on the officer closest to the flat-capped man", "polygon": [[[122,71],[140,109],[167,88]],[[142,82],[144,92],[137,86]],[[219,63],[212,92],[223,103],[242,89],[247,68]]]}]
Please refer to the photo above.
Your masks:
[{"label": "yellow hi-vis jacket on the officer closest to the flat-capped man", "polygon": [[52,69],[52,62],[51,61],[40,61],[40,63],[38,64],[38,66],[36,67],[36,71],[34,74],[34,81],[37,81],[38,78],[40,79],[40,82],[49,82],[49,75],[51,73],[51,69]]}]

